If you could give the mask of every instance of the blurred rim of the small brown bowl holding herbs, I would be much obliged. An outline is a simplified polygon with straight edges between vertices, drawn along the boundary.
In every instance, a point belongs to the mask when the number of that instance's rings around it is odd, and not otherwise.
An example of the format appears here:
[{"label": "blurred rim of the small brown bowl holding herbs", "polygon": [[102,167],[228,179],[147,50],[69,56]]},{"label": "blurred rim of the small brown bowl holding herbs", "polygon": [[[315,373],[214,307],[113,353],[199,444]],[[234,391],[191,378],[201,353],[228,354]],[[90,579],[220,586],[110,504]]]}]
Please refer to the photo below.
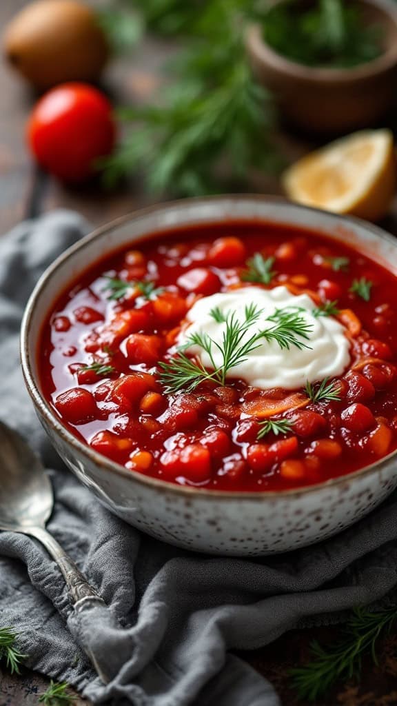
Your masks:
[{"label": "blurred rim of the small brown bowl holding herbs", "polygon": [[[278,3],[283,3],[288,0],[277,1]],[[391,4],[390,0],[358,1],[383,11],[386,16],[385,22],[394,25],[397,33],[397,7]],[[387,47],[386,51],[382,52],[376,59],[352,66],[352,68],[324,68],[320,66],[305,66],[304,64],[299,64],[298,61],[288,59],[283,54],[278,54],[264,40],[261,25],[258,22],[252,22],[247,26],[245,37],[247,49],[252,56],[256,57],[256,60],[271,66],[275,71],[283,73],[285,76],[302,79],[307,83],[352,83],[355,80],[360,81],[379,76],[379,74],[391,70],[397,64],[397,44]]]}]

